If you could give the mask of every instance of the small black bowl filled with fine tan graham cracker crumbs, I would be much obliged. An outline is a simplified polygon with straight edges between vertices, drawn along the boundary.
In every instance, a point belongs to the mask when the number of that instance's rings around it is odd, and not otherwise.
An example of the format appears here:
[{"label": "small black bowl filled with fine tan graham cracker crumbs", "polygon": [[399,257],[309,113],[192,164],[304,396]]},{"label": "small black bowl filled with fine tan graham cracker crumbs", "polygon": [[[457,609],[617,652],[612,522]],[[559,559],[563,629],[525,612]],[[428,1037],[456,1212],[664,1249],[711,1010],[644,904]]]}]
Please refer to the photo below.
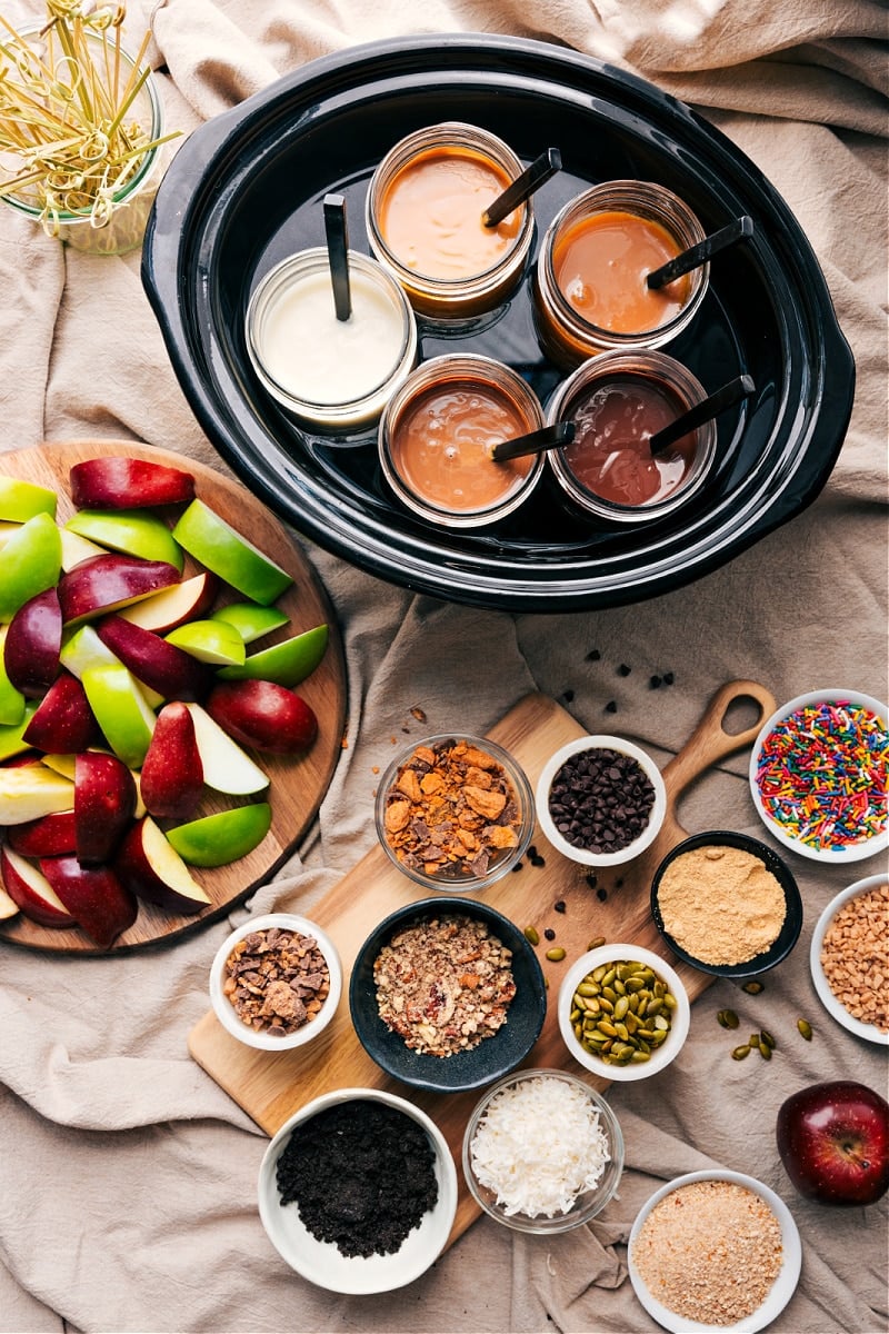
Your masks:
[{"label": "small black bowl filled with fine tan graham cracker crumbs", "polygon": [[802,899],[786,862],[748,834],[709,830],[672,848],[652,880],[652,916],[701,972],[753,978],[793,950]]}]

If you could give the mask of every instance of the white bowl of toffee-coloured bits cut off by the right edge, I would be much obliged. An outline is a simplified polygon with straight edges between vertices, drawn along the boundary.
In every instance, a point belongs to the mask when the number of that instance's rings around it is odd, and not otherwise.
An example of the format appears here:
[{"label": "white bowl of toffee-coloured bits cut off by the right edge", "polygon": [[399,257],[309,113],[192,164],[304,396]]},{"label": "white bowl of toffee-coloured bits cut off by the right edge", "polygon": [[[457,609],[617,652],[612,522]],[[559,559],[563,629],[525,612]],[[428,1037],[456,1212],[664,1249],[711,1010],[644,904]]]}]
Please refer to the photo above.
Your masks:
[{"label": "white bowl of toffee-coloured bits cut off by the right edge", "polygon": [[889,875],[856,880],[833,898],[812,932],[812,980],[828,1014],[849,1033],[889,1046]]}]

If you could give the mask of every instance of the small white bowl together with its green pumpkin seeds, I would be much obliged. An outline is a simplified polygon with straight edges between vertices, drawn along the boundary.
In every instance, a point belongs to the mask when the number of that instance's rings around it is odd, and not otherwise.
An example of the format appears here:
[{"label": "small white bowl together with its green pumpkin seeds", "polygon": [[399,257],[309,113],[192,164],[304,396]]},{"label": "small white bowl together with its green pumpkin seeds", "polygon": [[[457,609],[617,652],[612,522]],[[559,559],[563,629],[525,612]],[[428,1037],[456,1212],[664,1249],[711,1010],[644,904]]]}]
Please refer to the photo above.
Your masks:
[{"label": "small white bowl together with its green pumpkin seeds", "polygon": [[588,950],[558,988],[558,1029],[569,1055],[608,1081],[648,1079],[688,1037],[688,991],[676,970],[638,944]]}]

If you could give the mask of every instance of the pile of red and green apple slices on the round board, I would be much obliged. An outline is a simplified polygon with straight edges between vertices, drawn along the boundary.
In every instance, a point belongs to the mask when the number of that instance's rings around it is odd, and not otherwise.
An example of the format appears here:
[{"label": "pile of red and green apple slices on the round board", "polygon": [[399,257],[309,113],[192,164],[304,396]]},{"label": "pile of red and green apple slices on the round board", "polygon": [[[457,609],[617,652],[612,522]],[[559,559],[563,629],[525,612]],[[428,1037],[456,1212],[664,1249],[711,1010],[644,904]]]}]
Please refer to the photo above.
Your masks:
[{"label": "pile of red and green apple slices on the round board", "polygon": [[[263,842],[269,776],[249,751],[315,742],[293,687],[328,626],[253,650],[288,624],[293,580],[192,474],[100,456],[69,486],[61,524],[55,492],[0,475],[0,919],[109,948],[140,900],[200,912],[191,867]],[[201,815],[208,788],[231,804]]]}]

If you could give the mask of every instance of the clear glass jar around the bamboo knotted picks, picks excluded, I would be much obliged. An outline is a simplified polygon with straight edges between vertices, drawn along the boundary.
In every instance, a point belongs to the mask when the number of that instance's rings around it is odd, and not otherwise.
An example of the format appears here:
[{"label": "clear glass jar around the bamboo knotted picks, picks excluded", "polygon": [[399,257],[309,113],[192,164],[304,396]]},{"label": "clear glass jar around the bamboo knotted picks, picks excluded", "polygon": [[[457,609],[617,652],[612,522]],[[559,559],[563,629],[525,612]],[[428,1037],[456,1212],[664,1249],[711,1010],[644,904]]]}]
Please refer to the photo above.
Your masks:
[{"label": "clear glass jar around the bamboo knotted picks, picks excluded", "polygon": [[[41,36],[37,27],[23,28],[19,36],[29,45],[47,45],[51,40],[51,35]],[[115,40],[95,32],[85,32],[83,36],[89,44],[95,68],[100,75],[104,75],[105,52],[108,52],[111,61],[115,53]],[[56,59],[64,59],[57,43],[52,55]],[[120,88],[123,89],[133,71],[135,61],[123,47],[120,48],[120,59],[124,68],[120,77]],[[72,249],[85,251],[91,255],[125,255],[128,251],[137,249],[143,243],[148,215],[164,173],[168,148],[167,143],[155,143],[164,135],[164,108],[152,73],[148,75],[129,104],[125,120],[127,123],[139,123],[147,141],[153,147],[141,155],[137,168],[120,188],[108,196],[103,208],[95,212],[92,208],[63,208],[47,212],[37,189],[33,187],[27,192],[0,195],[0,199],[17,212],[40,223],[49,236],[59,237]]]}]

